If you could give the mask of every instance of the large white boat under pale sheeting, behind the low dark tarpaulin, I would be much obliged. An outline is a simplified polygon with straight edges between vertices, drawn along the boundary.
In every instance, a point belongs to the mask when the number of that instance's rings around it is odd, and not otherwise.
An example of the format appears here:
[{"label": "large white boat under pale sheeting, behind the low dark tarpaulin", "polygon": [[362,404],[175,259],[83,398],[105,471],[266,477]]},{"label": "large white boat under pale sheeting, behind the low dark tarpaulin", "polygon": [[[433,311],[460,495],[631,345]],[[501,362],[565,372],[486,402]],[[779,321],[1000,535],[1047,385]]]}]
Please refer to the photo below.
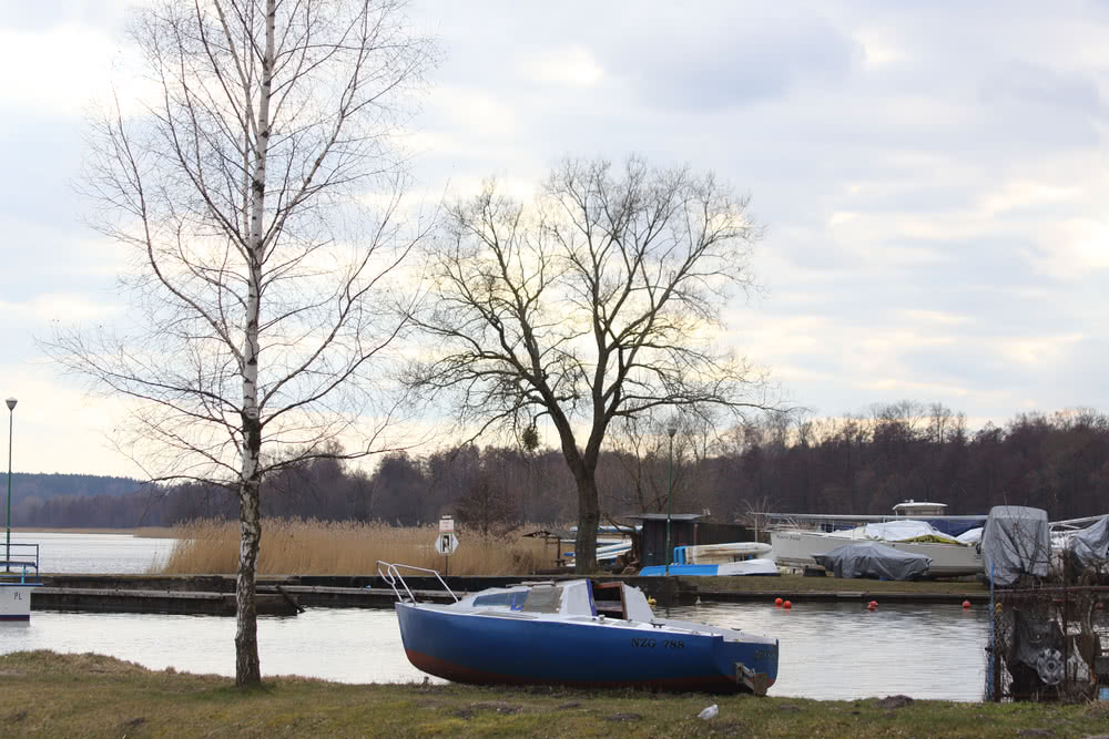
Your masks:
[{"label": "large white boat under pale sheeting, behind the low dark tarpaulin", "polygon": [[783,527],[771,531],[771,547],[780,565],[816,567],[815,555],[827,554],[851,541],[878,541],[909,554],[932,560],[930,577],[959,577],[984,572],[981,550],[936,531],[930,524],[912,519],[876,522],[846,531],[816,531]]}]

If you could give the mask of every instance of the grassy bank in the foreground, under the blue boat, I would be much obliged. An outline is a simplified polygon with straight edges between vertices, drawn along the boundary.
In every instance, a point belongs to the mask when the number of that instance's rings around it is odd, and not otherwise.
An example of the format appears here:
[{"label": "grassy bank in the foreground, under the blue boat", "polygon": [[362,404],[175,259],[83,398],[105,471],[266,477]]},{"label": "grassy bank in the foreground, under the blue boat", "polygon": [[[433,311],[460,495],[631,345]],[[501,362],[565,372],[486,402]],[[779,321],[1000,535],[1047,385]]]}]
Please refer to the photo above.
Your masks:
[{"label": "grassy bank in the foreground, under the blue boat", "polygon": [[[711,720],[696,718],[719,705]],[[151,671],[96,655],[0,657],[0,721],[24,737],[1056,737],[1103,732],[1109,707],[954,704],[561,688],[340,685]]]}]

